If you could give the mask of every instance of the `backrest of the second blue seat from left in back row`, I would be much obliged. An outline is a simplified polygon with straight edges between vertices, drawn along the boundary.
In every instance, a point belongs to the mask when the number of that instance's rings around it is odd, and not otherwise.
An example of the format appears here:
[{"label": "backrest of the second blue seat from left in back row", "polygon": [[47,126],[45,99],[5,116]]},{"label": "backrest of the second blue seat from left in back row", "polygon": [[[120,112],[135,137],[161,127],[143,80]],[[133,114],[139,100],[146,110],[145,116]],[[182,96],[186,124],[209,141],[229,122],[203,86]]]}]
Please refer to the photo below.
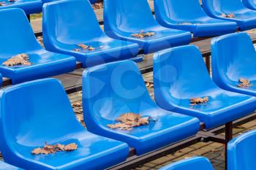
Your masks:
[{"label": "backrest of the second blue seat from left in back row", "polygon": [[43,6],[43,36],[48,41],[78,44],[104,35],[88,0],[53,1]]}]

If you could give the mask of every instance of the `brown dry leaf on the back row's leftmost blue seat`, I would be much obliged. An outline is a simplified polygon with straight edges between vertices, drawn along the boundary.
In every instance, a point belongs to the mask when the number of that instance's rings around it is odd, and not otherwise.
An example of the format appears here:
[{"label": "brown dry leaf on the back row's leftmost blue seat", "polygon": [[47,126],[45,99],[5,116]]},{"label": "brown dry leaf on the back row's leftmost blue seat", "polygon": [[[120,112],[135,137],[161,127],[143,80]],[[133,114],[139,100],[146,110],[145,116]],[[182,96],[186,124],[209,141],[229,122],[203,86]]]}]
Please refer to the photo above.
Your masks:
[{"label": "brown dry leaf on the back row's leftmost blue seat", "polygon": [[17,65],[23,65],[23,66],[30,66],[32,63],[29,62],[29,55],[26,54],[18,54],[13,56],[12,58],[9,58],[7,61],[4,61],[2,65],[4,66],[17,66]]}]

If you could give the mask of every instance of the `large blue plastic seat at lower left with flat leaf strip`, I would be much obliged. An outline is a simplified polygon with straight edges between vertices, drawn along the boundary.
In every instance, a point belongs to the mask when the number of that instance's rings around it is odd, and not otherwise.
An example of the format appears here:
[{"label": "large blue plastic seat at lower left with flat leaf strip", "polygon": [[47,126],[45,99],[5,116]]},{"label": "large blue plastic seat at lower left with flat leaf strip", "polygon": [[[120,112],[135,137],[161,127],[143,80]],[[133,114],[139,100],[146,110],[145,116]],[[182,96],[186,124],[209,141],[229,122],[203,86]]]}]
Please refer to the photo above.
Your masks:
[{"label": "large blue plastic seat at lower left with flat leaf strip", "polygon": [[[80,125],[56,79],[14,85],[0,91],[0,100],[0,146],[7,163],[26,170],[105,169],[124,161],[129,154],[127,144],[91,134]],[[45,142],[75,142],[78,150],[31,154]]]}]

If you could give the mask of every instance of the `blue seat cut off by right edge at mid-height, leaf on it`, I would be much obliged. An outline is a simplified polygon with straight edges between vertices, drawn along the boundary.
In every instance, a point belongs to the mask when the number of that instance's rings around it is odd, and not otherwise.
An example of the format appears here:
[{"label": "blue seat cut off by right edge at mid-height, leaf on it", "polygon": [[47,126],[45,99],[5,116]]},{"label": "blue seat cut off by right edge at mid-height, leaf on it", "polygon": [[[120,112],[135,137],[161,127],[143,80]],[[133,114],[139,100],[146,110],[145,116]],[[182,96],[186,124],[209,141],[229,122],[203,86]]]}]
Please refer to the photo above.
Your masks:
[{"label": "blue seat cut off by right edge at mid-height, leaf on it", "polygon": [[[256,52],[246,33],[219,36],[211,42],[212,74],[220,88],[256,96]],[[252,87],[238,88],[238,79],[249,79]]]}]

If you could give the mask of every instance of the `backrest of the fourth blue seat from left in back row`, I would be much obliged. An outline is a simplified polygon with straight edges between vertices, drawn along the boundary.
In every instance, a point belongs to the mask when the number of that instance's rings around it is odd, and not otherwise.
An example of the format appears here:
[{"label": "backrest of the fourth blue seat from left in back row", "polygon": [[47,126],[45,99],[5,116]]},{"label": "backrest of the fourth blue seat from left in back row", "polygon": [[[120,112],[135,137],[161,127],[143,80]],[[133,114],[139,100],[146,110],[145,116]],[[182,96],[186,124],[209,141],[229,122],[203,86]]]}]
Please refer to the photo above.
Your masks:
[{"label": "backrest of the fourth blue seat from left in back row", "polygon": [[198,0],[154,0],[154,7],[157,20],[169,18],[173,23],[207,16]]}]

